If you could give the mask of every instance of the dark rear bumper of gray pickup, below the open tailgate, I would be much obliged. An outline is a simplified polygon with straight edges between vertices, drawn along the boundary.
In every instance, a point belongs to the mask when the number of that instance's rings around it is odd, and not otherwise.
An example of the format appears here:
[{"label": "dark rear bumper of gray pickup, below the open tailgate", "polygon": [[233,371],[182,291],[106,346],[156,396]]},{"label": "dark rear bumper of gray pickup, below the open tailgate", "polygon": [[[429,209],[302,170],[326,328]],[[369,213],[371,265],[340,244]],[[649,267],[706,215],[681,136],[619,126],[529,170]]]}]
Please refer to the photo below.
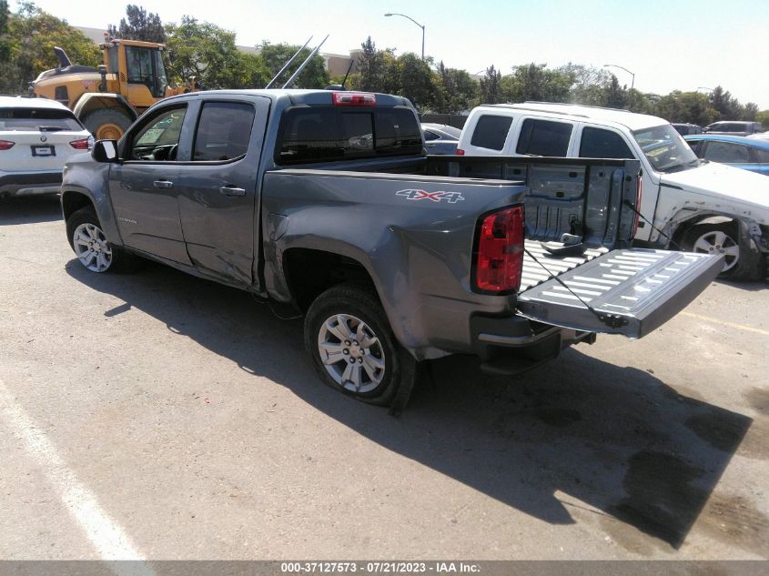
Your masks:
[{"label": "dark rear bumper of gray pickup, below the open tailgate", "polygon": [[594,332],[558,328],[512,316],[471,318],[475,353],[481,369],[492,374],[514,375],[556,358],[578,342],[592,344]]}]

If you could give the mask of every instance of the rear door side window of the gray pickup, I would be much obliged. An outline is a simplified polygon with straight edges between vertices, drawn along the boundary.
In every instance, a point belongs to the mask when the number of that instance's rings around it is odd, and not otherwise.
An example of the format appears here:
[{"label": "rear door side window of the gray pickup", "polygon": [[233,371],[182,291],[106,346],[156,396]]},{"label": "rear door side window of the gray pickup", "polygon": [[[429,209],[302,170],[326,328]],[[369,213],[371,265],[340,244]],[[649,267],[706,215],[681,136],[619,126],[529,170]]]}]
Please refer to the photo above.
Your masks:
[{"label": "rear door side window of the gray pickup", "polygon": [[197,122],[192,159],[223,161],[246,154],[254,116],[254,106],[250,104],[206,102]]}]

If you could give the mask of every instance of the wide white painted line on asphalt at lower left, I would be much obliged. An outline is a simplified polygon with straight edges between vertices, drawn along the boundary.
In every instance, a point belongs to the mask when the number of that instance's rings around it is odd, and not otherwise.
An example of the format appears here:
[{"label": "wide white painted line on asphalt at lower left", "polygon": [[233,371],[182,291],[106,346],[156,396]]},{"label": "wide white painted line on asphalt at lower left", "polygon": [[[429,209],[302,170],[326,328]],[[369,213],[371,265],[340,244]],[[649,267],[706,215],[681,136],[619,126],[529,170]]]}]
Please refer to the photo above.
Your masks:
[{"label": "wide white painted line on asphalt at lower left", "polygon": [[[96,496],[77,480],[75,472],[59,456],[54,444],[35,426],[25,410],[18,406],[2,379],[0,417],[13,434],[24,442],[25,449],[46,475],[66,510],[86,533],[87,539],[94,545],[101,558],[106,561],[142,561],[142,555],[128,539],[126,532],[106,515]],[[139,565],[134,562],[116,562],[111,565],[111,569],[118,576],[154,574],[144,562]]]}]

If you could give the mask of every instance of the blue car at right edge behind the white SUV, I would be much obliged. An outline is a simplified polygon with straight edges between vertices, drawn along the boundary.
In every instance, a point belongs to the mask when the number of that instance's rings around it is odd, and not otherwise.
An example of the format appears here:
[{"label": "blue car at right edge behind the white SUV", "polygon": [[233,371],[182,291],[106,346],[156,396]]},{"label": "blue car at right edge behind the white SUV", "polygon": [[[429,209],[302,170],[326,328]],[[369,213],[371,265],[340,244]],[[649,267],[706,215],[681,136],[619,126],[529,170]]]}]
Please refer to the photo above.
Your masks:
[{"label": "blue car at right edge behind the white SUV", "polygon": [[769,176],[769,139],[701,134],[683,136],[697,157]]}]

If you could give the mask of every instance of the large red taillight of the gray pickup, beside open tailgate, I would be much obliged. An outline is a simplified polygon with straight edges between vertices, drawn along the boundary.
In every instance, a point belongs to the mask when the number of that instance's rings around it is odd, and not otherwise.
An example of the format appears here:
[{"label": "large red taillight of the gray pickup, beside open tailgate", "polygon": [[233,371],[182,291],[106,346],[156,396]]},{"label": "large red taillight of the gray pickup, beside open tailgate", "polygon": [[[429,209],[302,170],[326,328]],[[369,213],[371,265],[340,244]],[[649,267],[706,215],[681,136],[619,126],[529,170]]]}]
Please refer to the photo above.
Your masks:
[{"label": "large red taillight of the gray pickup, beside open tailgate", "polygon": [[521,286],[523,207],[493,212],[480,221],[475,252],[475,288],[509,293]]}]

